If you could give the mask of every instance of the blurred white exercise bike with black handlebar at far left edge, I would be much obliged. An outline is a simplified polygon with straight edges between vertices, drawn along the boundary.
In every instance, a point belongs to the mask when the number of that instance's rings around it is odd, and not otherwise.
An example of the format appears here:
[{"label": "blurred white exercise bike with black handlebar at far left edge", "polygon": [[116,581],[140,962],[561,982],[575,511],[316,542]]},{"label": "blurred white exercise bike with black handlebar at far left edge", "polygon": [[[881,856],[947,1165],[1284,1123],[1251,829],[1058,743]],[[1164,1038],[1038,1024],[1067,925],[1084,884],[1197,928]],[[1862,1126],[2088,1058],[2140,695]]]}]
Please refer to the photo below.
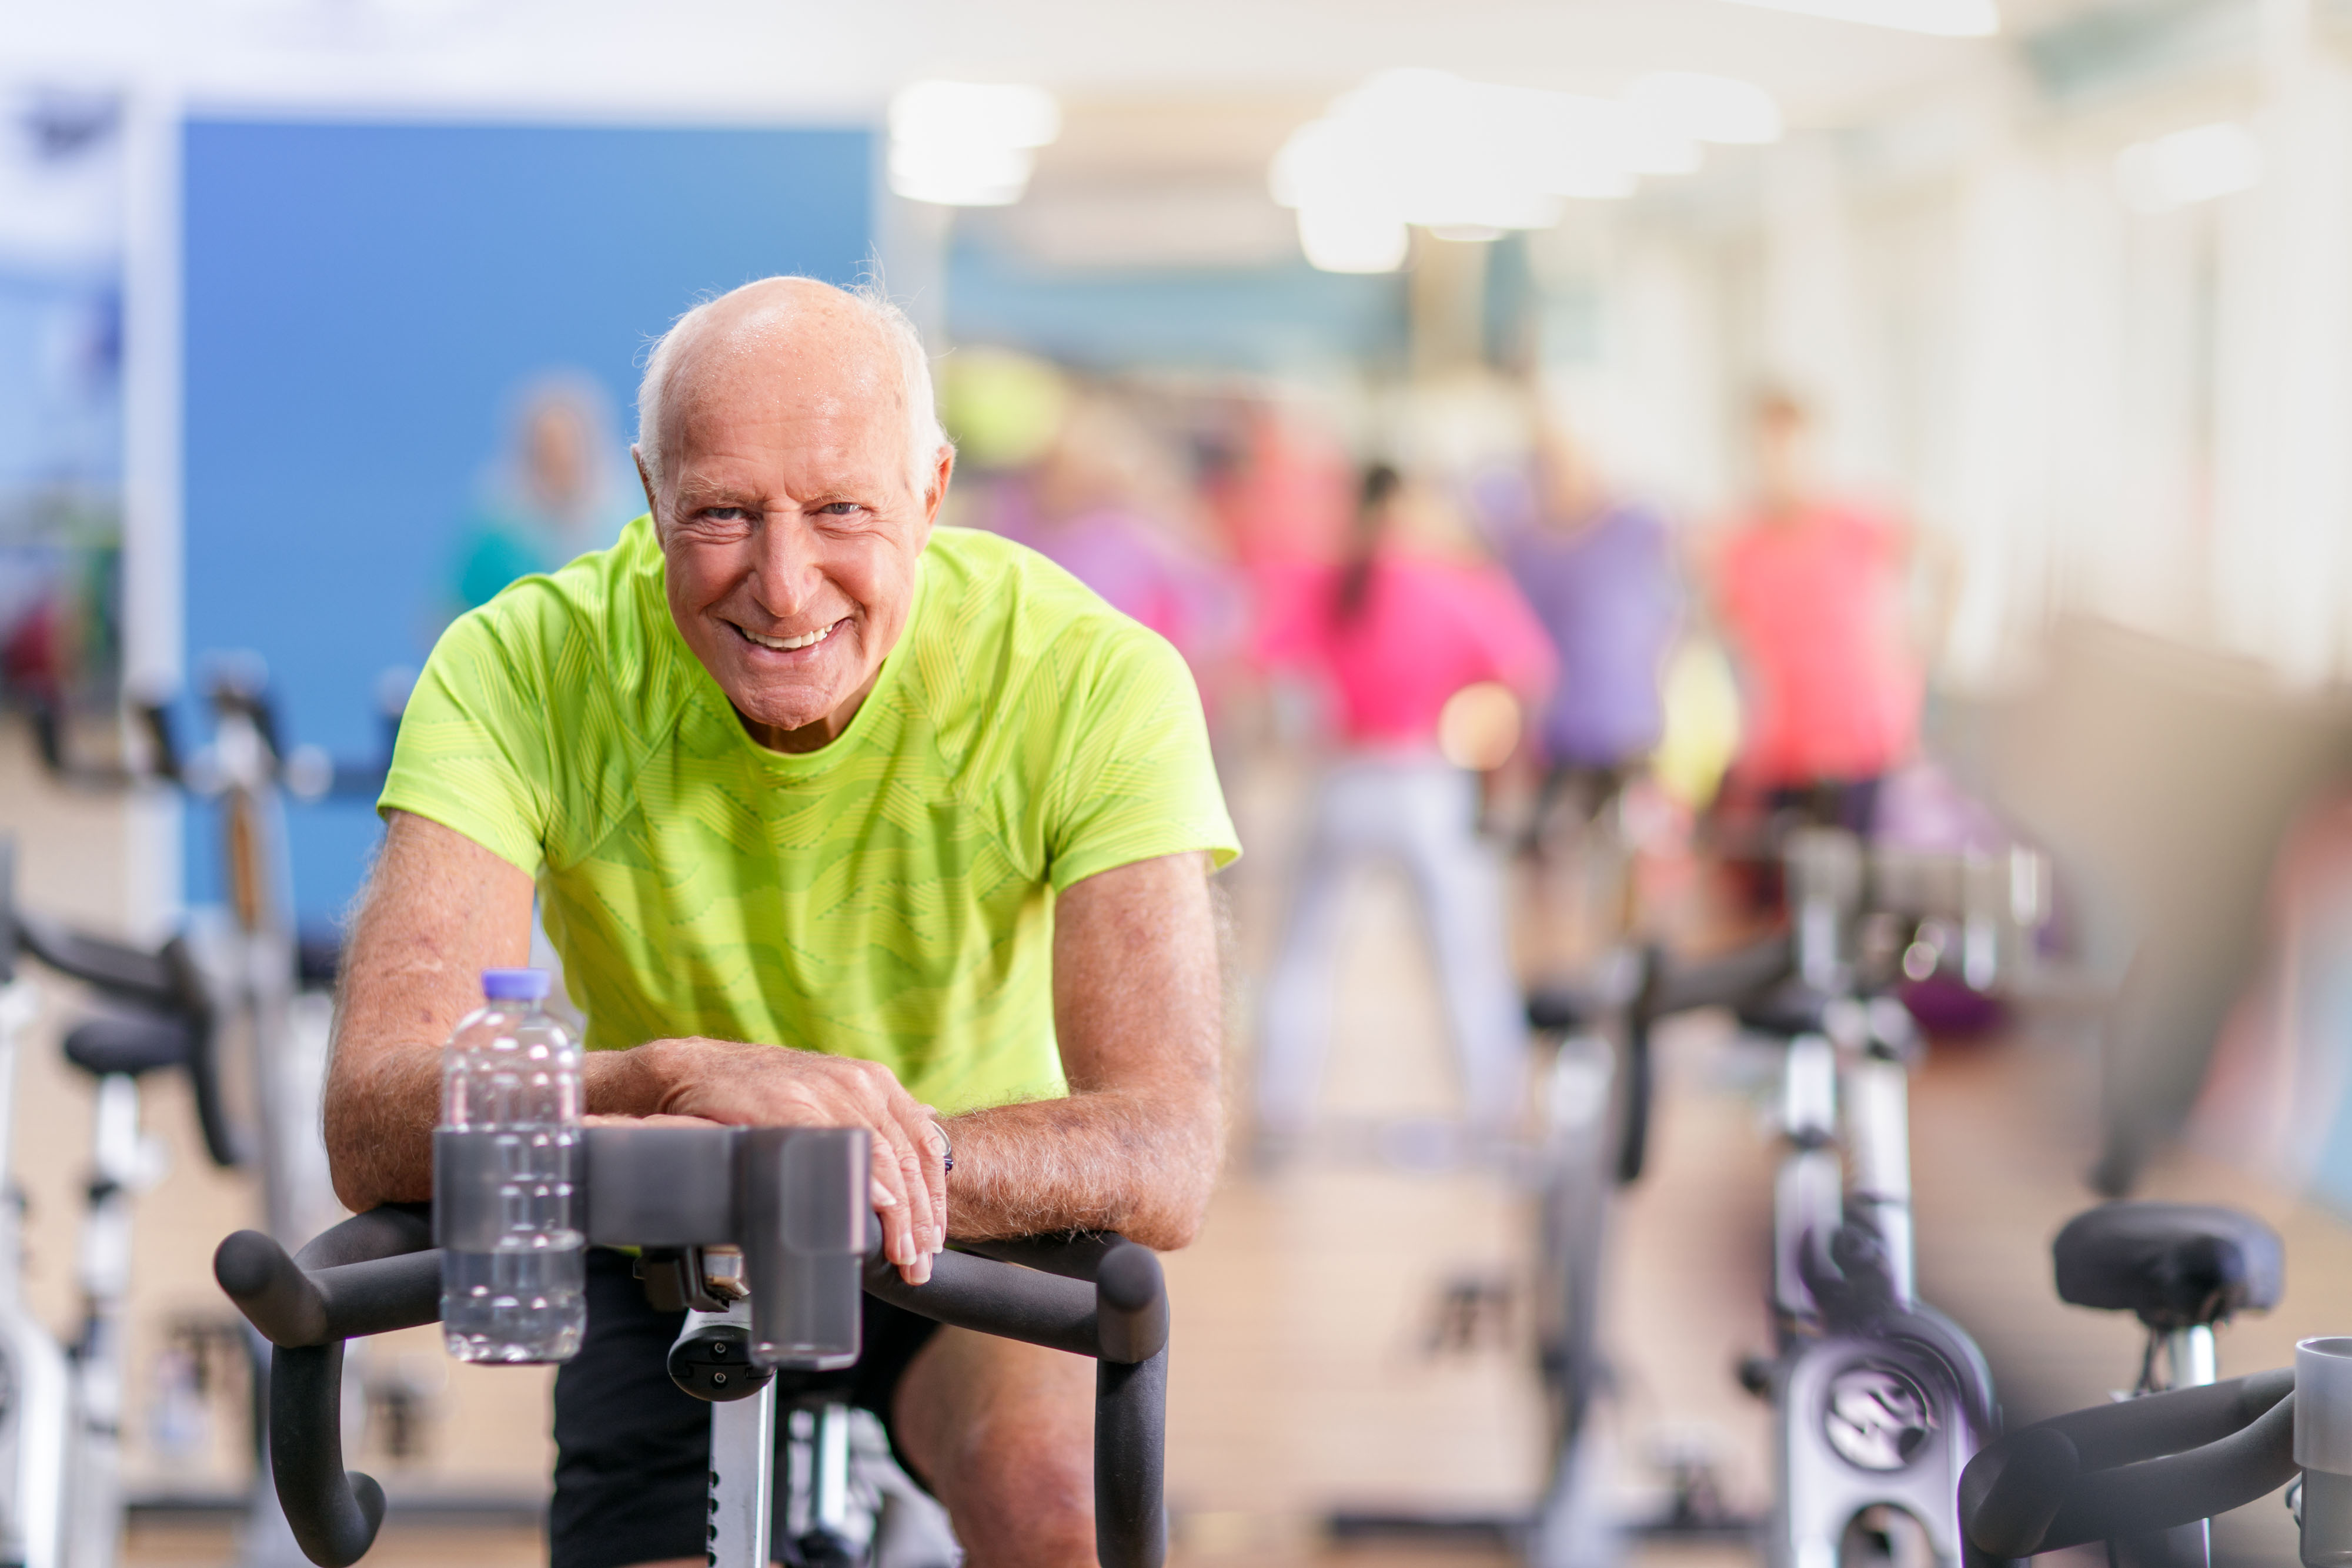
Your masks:
[{"label": "blurred white exercise bike with black handlebar at far left edge", "polygon": [[132,1194],[162,1175],[139,1128],[139,1079],[181,1070],[205,1150],[238,1159],[214,1072],[214,1006],[186,940],[158,952],[108,943],[14,903],[14,844],[0,839],[0,1173],[14,1171],[16,1063],[33,987],[16,959],[92,987],[108,1011],[66,1032],[64,1056],[96,1081],[92,1171],[71,1345],[24,1300],[19,1194],[0,1197],[0,1561],[14,1568],[111,1568],[122,1535],[122,1345],[132,1267]]}]

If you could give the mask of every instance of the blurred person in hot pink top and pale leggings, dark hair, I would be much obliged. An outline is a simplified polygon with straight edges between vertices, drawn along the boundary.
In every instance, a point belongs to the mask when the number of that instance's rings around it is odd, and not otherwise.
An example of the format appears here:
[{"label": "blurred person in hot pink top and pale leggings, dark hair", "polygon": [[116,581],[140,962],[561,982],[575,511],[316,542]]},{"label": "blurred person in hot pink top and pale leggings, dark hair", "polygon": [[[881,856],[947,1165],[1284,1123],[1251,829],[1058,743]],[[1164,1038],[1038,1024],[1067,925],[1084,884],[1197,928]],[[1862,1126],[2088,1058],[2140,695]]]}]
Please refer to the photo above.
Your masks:
[{"label": "blurred person in hot pink top and pale leggings, dark hair", "polygon": [[[1279,585],[1277,585],[1279,583]],[[1270,578],[1261,656],[1331,691],[1341,757],[1322,778],[1279,957],[1258,1023],[1258,1138],[1294,1147],[1315,1114],[1331,1037],[1331,987],[1350,872],[1402,863],[1437,959],[1475,1138],[1517,1110],[1526,1032],[1510,971],[1501,867],[1477,835],[1477,773],[1437,745],[1468,686],[1508,686],[1522,710],[1555,656],[1526,599],[1479,555],[1432,487],[1364,473],[1348,557]]]}]

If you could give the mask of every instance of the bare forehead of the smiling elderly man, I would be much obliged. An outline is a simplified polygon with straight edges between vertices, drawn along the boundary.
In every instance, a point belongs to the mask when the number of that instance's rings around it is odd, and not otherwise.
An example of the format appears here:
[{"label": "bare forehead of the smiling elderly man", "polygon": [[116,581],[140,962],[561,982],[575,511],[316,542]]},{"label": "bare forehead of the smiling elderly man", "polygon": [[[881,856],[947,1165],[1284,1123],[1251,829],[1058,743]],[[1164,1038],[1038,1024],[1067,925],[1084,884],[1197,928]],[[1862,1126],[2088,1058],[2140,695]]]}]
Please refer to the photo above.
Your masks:
[{"label": "bare forehead of the smiling elderly man", "polygon": [[666,463],[746,437],[901,463],[906,378],[894,343],[847,313],[717,322],[680,346],[661,404]]}]

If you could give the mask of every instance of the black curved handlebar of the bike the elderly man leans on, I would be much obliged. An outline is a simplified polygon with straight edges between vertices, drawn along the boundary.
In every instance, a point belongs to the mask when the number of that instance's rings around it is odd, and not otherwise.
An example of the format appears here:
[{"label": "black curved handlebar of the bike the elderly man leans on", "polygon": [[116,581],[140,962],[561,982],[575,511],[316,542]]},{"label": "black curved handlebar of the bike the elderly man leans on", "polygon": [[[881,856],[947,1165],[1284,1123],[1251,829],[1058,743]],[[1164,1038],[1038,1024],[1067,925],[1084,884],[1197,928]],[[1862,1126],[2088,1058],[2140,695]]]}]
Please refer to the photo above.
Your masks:
[{"label": "black curved handlebar of the bike the elderly man leans on", "polygon": [[[343,1340],[440,1319],[428,1206],[374,1208],[294,1258],[240,1229],[214,1276],[273,1342],[270,1474],[303,1556],[358,1563],[383,1523],[383,1488],[343,1469]],[[863,1288],[941,1324],[1096,1361],[1096,1552],[1105,1568],[1155,1568],[1167,1549],[1162,1448],[1169,1302],[1160,1258],[1117,1234],[976,1241],[906,1284],[868,1251]]]}]

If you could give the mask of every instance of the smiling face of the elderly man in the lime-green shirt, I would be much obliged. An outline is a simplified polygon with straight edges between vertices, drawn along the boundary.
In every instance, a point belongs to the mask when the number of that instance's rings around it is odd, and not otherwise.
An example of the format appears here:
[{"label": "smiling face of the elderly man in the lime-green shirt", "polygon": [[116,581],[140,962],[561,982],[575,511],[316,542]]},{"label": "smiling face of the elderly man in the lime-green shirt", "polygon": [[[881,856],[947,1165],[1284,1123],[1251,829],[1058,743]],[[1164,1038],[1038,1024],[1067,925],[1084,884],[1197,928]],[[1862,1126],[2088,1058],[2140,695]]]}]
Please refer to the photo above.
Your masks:
[{"label": "smiling face of the elderly man in the lime-green shirt", "polygon": [[870,329],[793,324],[673,378],[647,480],[670,616],[771,750],[840,736],[906,630],[950,468],[941,451],[924,496],[906,430]]}]

